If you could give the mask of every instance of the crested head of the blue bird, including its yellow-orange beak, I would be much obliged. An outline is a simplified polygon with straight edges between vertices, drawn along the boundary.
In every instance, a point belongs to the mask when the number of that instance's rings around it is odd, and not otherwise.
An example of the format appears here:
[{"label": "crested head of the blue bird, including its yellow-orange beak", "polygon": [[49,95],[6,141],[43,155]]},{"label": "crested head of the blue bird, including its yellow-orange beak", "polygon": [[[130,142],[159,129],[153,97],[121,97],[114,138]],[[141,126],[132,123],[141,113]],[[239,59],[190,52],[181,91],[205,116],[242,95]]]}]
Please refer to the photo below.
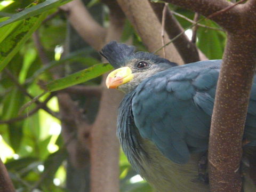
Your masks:
[{"label": "crested head of the blue bird, including its yellow-orange beak", "polygon": [[177,66],[176,63],[155,54],[135,52],[134,46],[117,42],[109,42],[100,54],[116,68],[106,79],[107,87],[124,93],[133,91],[144,79],[159,71]]}]

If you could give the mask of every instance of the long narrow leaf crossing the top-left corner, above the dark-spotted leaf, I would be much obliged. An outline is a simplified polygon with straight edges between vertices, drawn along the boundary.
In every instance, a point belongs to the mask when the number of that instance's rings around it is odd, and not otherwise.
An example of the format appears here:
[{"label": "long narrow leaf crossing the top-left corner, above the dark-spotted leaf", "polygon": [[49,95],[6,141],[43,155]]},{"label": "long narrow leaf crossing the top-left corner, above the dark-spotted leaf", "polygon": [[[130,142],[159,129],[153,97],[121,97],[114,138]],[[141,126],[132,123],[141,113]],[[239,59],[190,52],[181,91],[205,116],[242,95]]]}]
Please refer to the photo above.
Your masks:
[{"label": "long narrow leaf crossing the top-left corner, above the dark-spotted leaf", "polygon": [[14,21],[19,21],[22,19],[27,19],[29,17],[33,17],[35,15],[41,14],[45,11],[53,9],[55,7],[59,7],[65,3],[68,3],[72,0],[46,0],[43,3],[39,3],[38,5],[29,7],[19,13],[13,14],[10,19],[0,22],[0,27],[3,27],[9,23]]}]

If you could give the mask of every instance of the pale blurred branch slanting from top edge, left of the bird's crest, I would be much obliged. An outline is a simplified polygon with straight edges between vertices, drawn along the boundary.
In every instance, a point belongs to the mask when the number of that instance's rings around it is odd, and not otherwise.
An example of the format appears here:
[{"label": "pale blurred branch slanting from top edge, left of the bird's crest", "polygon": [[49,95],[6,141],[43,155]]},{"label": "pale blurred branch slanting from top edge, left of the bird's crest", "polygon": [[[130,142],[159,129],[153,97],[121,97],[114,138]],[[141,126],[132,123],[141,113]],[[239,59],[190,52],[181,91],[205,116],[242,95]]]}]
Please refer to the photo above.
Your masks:
[{"label": "pale blurred branch slanting from top edge, left of the bird's crest", "polygon": [[68,13],[71,25],[85,42],[99,50],[104,42],[106,30],[99,25],[86,10],[81,0],[74,0],[60,7]]}]

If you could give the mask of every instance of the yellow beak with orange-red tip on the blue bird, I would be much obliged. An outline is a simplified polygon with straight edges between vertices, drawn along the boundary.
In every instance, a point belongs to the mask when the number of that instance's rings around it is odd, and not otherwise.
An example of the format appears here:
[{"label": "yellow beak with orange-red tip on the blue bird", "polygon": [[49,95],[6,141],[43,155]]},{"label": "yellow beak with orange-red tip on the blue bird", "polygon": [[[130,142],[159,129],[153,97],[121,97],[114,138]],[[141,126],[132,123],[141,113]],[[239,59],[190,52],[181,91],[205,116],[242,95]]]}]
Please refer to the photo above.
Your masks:
[{"label": "yellow beak with orange-red tip on the blue bird", "polygon": [[108,74],[106,79],[106,86],[108,89],[116,89],[119,85],[131,81],[132,78],[132,70],[129,67],[121,67]]}]

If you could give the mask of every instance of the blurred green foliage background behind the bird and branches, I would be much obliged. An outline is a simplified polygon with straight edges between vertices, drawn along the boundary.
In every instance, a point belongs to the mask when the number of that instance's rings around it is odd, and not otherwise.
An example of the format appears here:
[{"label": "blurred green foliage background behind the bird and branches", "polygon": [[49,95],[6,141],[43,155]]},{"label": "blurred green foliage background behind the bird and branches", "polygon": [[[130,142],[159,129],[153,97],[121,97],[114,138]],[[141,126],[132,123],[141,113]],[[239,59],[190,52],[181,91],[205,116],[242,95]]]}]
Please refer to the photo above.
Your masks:
[{"label": "blurred green foliage background behind the bird and branches", "polygon": [[[45,2],[49,5],[43,4]],[[63,142],[60,134],[63,119],[59,116],[56,92],[47,92],[39,98],[39,102],[21,111],[25,103],[44,92],[45,84],[54,80],[54,70],[60,71],[61,76],[67,78],[57,82],[52,90],[81,83],[76,82],[76,79],[70,82],[71,77],[68,75],[89,67],[92,69],[90,78],[82,79],[82,85],[99,85],[99,75],[111,69],[110,66],[102,68],[98,52],[86,44],[70,26],[65,13],[59,9],[61,4],[67,2],[0,1],[0,157],[15,188],[20,192],[89,191],[88,183],[84,187],[77,179],[83,178],[89,182],[89,169],[85,168],[81,173],[68,160],[66,147],[69,143]],[[84,5],[102,26],[109,25],[106,5],[97,0],[84,1]],[[170,7],[174,12],[193,20],[193,12],[176,6]],[[24,9],[28,11],[24,12]],[[176,17],[183,28],[191,26],[187,19]],[[201,23],[219,28],[210,20]],[[186,34],[191,37],[191,29]],[[209,59],[222,58],[225,40],[222,30],[198,27],[196,44]],[[138,50],[146,51],[128,20],[121,38],[121,42],[126,41],[132,42]],[[42,61],[38,49],[44,50],[49,59],[47,65]],[[94,66],[96,64],[100,66],[97,68]],[[80,73],[84,72],[79,72],[78,76]],[[88,118],[93,121],[99,98],[89,100],[82,94],[74,94],[72,99],[84,110],[83,113],[91,111]],[[46,107],[42,107],[45,106],[42,103],[46,103]],[[119,167],[120,191],[152,191],[131,169],[122,152]]]}]

